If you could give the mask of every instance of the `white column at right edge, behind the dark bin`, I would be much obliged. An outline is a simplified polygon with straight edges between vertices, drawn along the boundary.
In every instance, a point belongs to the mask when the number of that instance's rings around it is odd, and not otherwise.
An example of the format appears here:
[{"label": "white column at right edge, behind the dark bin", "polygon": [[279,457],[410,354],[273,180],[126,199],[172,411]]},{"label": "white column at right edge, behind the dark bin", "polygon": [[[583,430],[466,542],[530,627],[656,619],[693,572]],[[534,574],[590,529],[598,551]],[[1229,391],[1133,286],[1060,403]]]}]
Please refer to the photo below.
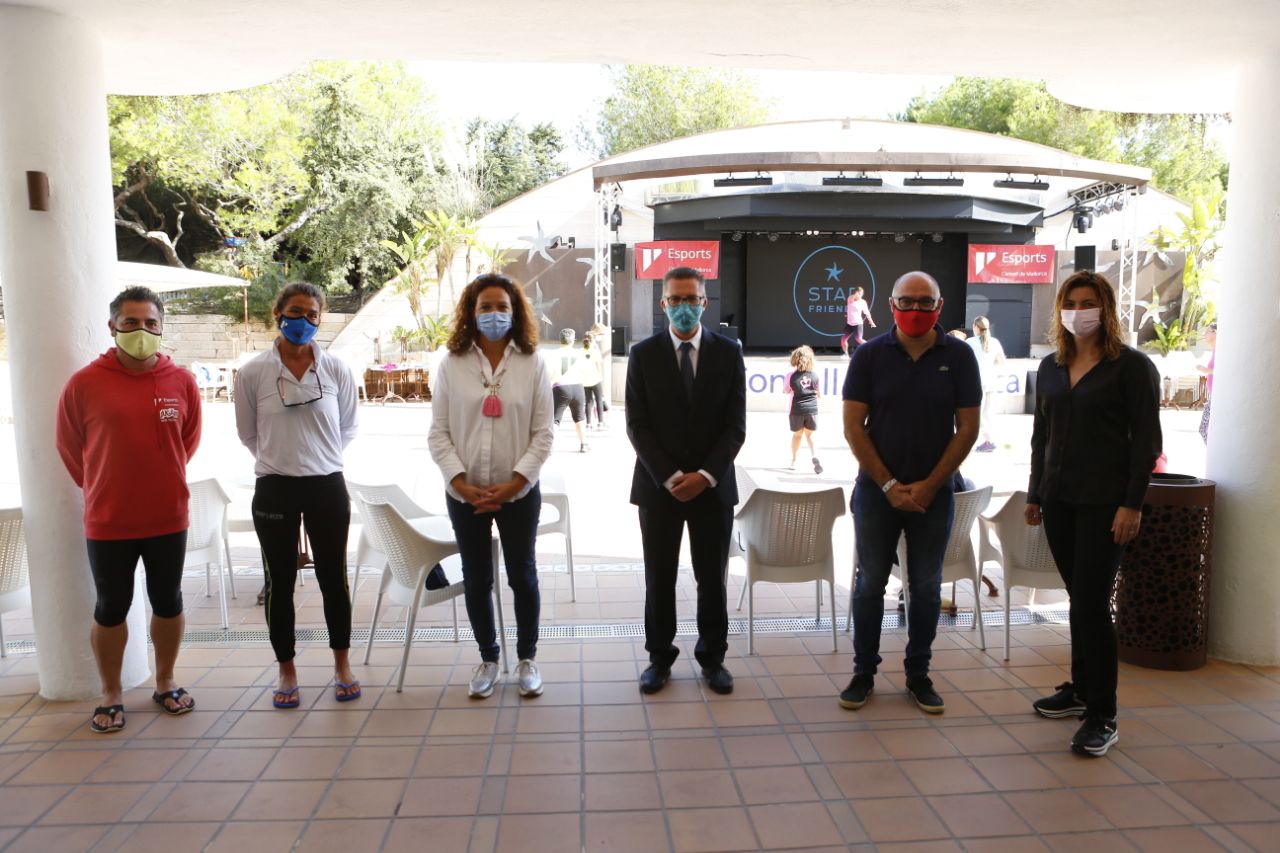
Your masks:
[{"label": "white column at right edge, behind the dark bin", "polygon": [[1280,663],[1280,55],[1236,82],[1208,475],[1217,480],[1210,653]]}]

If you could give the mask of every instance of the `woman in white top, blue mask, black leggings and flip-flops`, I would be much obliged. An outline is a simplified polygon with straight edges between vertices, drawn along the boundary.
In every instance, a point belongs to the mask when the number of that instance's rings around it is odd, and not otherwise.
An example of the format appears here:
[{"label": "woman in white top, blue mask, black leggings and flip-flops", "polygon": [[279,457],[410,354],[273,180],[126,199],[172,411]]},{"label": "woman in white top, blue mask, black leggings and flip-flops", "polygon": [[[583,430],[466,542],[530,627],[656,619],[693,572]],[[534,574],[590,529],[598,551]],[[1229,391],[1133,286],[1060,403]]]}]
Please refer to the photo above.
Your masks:
[{"label": "woman in white top, blue mask, black leggings and flip-flops", "polygon": [[287,286],[273,314],[280,337],[236,377],[236,428],[253,455],[253,529],[266,573],[266,625],[280,678],[271,702],[301,703],[293,665],[293,584],[298,576],[298,525],[306,526],[316,583],[333,649],[334,697],[360,698],[347,661],[351,593],[347,589],[347,526],[351,503],[342,453],[356,437],[356,382],[351,369],[312,338],[324,293],[314,284]]}]

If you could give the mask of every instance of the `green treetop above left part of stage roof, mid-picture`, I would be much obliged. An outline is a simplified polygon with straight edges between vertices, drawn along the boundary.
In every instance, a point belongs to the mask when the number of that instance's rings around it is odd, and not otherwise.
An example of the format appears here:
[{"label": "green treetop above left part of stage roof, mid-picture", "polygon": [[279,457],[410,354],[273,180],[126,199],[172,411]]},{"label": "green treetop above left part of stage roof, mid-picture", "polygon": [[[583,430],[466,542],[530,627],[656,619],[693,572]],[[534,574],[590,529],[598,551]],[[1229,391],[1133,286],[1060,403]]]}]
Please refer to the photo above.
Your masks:
[{"label": "green treetop above left part of stage roof, mid-picture", "polygon": [[759,124],[769,117],[755,81],[737,70],[668,65],[611,67],[613,92],[579,145],[605,158],[705,131]]}]

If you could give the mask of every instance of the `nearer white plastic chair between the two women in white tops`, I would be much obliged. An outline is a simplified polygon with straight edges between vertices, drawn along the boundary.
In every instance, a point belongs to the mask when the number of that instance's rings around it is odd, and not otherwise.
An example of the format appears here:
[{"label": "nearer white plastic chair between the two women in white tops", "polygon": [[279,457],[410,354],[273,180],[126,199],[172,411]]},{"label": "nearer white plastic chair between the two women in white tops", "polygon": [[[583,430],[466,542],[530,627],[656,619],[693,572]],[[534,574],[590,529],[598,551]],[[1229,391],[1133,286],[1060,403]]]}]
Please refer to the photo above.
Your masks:
[{"label": "nearer white plastic chair between the two women in white tops", "polygon": [[396,683],[396,692],[403,693],[408,649],[413,644],[413,626],[417,624],[420,608],[452,599],[453,642],[458,642],[457,599],[463,592],[462,581],[452,583],[443,589],[426,589],[426,573],[449,555],[457,553],[458,546],[453,540],[452,530],[445,538],[443,528],[439,535],[416,529],[389,502],[367,501],[357,496],[356,505],[360,508],[360,517],[365,523],[364,529],[369,534],[371,546],[387,556],[387,571],[383,573],[378,601],[374,603],[374,617],[369,622],[365,663],[369,663],[369,653],[374,646],[374,629],[378,628],[378,612],[381,610],[385,596],[390,598],[392,603],[408,608],[404,620],[404,654],[401,657],[399,680]]}]

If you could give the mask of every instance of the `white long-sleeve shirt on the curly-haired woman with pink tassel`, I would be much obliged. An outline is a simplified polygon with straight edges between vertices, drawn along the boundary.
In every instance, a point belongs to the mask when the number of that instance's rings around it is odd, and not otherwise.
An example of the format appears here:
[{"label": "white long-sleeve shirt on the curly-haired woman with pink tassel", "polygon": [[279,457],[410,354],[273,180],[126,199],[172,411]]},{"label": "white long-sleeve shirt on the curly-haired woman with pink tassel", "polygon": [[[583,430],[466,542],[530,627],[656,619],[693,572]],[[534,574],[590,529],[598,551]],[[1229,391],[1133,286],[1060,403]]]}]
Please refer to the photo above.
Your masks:
[{"label": "white long-sleeve shirt on the curly-haired woman with pink tassel", "polygon": [[[489,396],[485,383],[495,382],[500,384],[502,416],[488,418],[481,411]],[[512,500],[525,497],[550,456],[553,434],[552,383],[539,353],[524,353],[512,342],[497,370],[479,346],[440,361],[431,389],[428,446],[452,498],[463,500],[451,485],[458,474],[479,487],[520,474],[529,485]]]}]

